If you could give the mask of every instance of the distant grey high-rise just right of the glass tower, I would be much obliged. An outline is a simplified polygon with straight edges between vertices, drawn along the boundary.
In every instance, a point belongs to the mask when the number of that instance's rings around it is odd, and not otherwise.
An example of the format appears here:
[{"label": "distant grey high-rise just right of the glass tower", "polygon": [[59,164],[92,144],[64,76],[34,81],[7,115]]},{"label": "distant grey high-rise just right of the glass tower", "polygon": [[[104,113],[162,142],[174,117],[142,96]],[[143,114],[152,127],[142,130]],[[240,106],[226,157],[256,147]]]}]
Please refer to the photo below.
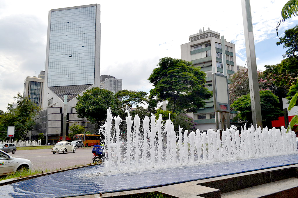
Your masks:
[{"label": "distant grey high-rise just right of the glass tower", "polygon": [[108,89],[113,92],[113,94],[116,94],[118,91],[122,91],[122,79],[109,75],[100,75],[100,81],[103,88]]}]

